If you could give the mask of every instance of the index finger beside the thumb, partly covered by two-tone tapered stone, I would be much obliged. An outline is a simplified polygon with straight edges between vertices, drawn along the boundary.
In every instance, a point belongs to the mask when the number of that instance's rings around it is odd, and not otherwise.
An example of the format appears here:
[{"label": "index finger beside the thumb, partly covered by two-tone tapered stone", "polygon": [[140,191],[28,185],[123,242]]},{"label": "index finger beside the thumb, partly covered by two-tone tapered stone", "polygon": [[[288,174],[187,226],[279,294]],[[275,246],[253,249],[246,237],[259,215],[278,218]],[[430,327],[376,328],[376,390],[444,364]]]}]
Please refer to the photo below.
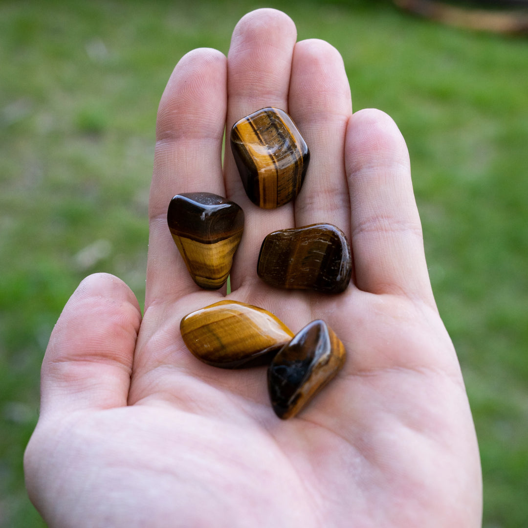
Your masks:
[{"label": "index finger beside the thumb, partly covered by two-tone tapered stone", "polygon": [[155,298],[181,296],[194,284],[167,227],[175,194],[224,196],[222,138],[227,111],[227,59],[196,49],[178,62],[159,103],[149,197],[149,248],[145,308]]}]

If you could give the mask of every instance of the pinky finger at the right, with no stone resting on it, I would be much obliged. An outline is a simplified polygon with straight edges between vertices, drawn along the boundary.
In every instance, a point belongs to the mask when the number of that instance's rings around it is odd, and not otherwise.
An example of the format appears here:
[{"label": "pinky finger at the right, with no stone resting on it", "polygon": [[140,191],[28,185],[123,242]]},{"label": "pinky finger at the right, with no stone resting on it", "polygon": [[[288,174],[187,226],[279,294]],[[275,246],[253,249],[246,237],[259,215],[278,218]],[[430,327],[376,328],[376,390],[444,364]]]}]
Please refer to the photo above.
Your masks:
[{"label": "pinky finger at the right, with no stone resting on it", "polygon": [[352,116],[345,165],[357,287],[434,306],[409,154],[388,115],[369,109]]}]

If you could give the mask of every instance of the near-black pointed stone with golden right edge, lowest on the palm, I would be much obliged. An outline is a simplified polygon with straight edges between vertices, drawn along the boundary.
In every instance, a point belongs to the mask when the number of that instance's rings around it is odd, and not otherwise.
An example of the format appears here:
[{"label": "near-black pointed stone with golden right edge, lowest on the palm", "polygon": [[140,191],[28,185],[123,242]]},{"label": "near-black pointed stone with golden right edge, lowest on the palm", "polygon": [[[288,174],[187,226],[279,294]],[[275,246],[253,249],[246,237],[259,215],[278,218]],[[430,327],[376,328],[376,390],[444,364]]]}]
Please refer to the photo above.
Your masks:
[{"label": "near-black pointed stone with golden right edge, lowest on the palm", "polygon": [[279,418],[295,416],[342,368],[343,343],[323,320],[306,325],[268,367],[268,389]]}]

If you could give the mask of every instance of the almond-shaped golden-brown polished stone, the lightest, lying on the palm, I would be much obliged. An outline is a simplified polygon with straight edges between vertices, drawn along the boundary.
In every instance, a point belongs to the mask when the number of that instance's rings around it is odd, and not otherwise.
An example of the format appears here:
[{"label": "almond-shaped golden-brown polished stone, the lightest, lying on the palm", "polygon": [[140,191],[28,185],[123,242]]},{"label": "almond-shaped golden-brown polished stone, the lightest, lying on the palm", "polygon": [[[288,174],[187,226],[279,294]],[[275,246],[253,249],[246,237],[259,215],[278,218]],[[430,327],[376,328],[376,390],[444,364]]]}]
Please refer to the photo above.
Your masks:
[{"label": "almond-shaped golden-brown polished stone, the lightest, lying on the palm", "polygon": [[198,359],[224,369],[267,364],[294,336],[267,310],[232,300],[186,315],[180,330]]}]

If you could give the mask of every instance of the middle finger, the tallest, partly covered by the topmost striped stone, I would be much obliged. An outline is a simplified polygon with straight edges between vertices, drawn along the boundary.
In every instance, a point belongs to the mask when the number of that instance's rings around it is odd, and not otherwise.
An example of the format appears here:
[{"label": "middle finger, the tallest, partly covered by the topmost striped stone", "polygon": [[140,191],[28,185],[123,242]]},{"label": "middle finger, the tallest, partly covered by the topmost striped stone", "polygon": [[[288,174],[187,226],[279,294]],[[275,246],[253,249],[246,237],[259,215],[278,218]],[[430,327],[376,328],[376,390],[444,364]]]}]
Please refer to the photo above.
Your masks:
[{"label": "middle finger, the tallest, partly covered by the topmost striped stone", "polygon": [[[288,111],[296,40],[294,22],[280,11],[258,10],[241,18],[233,31],[228,54],[226,144],[233,124],[252,112],[268,106]],[[246,196],[229,145],[225,149],[224,177],[229,199],[246,213],[244,234],[231,270],[231,288],[235,290],[258,281],[260,244],[270,231],[293,227],[293,204],[271,211],[254,205]]]}]

